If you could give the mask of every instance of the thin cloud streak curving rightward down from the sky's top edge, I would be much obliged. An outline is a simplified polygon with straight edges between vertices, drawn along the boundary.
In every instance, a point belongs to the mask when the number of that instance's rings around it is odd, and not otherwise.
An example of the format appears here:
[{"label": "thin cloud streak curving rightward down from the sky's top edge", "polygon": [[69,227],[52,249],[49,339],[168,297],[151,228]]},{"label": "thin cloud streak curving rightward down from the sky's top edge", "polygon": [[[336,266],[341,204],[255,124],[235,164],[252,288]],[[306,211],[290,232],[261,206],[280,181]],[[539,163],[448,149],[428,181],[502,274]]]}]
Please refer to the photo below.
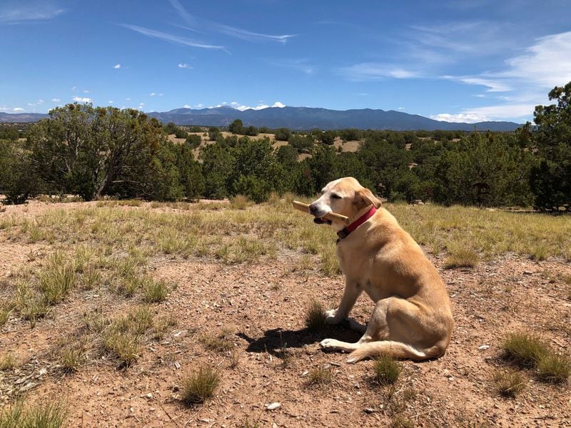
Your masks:
[{"label": "thin cloud streak curving rightward down from the sky's top edge", "polygon": [[207,19],[197,19],[196,16],[193,16],[184,9],[184,6],[178,0],[170,0],[171,6],[178,12],[178,15],[183,19],[190,26],[183,27],[191,31],[196,31],[198,33],[202,33],[203,31],[198,31],[197,28],[203,26],[206,31],[214,31],[219,34],[224,34],[226,36],[231,36],[236,39],[242,39],[247,41],[276,41],[281,44],[287,43],[288,39],[297,36],[297,34],[263,34],[257,33],[256,31],[249,31],[246,29],[238,29],[234,26],[229,26],[225,24],[220,24],[216,21],[211,21]]}]

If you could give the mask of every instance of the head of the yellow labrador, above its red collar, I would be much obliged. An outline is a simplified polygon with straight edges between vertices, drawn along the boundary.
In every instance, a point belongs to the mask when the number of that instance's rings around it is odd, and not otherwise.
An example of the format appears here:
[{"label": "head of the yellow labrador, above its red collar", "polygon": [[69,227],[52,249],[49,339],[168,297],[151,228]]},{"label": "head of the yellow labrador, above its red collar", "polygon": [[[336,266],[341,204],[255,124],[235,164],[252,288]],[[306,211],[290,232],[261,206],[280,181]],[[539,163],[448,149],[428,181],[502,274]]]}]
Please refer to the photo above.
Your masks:
[{"label": "head of the yellow labrador, above its red collar", "polygon": [[[353,177],[339,178],[331,181],[323,190],[321,197],[309,205],[310,214],[315,216],[315,223],[329,223],[321,220],[327,213],[346,215],[351,221],[363,214],[365,208],[375,205],[380,207],[380,200],[373,193],[359,184]],[[342,225],[333,224],[335,228],[343,229]]]}]

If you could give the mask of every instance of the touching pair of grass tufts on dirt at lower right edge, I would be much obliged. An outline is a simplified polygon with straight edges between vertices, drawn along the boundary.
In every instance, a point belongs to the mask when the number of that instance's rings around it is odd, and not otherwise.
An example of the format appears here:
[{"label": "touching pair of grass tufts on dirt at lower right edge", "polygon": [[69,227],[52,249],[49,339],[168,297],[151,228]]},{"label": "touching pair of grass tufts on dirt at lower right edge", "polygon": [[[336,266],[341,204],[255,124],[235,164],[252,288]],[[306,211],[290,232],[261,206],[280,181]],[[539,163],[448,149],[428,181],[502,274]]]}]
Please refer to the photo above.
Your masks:
[{"label": "touching pair of grass tufts on dirt at lower right edge", "polygon": [[532,368],[544,382],[562,383],[571,375],[571,360],[557,355],[545,342],[527,333],[507,335],[502,345],[505,360]]}]

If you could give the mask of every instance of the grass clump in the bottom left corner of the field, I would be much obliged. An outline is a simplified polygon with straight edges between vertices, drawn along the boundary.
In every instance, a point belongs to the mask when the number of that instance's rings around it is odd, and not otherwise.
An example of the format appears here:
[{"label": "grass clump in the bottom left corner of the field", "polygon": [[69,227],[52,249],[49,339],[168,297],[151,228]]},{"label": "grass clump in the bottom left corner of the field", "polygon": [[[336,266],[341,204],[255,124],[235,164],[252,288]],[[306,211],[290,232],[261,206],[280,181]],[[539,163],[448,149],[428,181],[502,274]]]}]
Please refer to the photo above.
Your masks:
[{"label": "grass clump in the bottom left corner of the field", "polygon": [[64,426],[66,413],[61,402],[24,407],[18,401],[0,410],[0,428],[59,428]]}]

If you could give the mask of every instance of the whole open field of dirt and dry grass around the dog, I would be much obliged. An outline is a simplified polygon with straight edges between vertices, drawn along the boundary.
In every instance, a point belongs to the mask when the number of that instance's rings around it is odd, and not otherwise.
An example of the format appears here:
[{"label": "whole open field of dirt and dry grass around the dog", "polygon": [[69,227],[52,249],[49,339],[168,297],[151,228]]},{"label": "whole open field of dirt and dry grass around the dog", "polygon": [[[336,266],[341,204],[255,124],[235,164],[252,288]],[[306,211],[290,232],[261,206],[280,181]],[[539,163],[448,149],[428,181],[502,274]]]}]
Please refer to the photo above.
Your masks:
[{"label": "whole open field of dirt and dry grass around the dog", "polygon": [[[54,403],[70,427],[569,423],[568,216],[386,205],[443,275],[453,342],[439,360],[347,365],[318,342],[355,332],[305,325],[343,292],[335,234],[290,200],[6,206],[1,403]],[[362,296],[352,315],[372,308]],[[507,360],[520,332],[547,358]],[[218,386],[200,404],[206,369]]]}]

